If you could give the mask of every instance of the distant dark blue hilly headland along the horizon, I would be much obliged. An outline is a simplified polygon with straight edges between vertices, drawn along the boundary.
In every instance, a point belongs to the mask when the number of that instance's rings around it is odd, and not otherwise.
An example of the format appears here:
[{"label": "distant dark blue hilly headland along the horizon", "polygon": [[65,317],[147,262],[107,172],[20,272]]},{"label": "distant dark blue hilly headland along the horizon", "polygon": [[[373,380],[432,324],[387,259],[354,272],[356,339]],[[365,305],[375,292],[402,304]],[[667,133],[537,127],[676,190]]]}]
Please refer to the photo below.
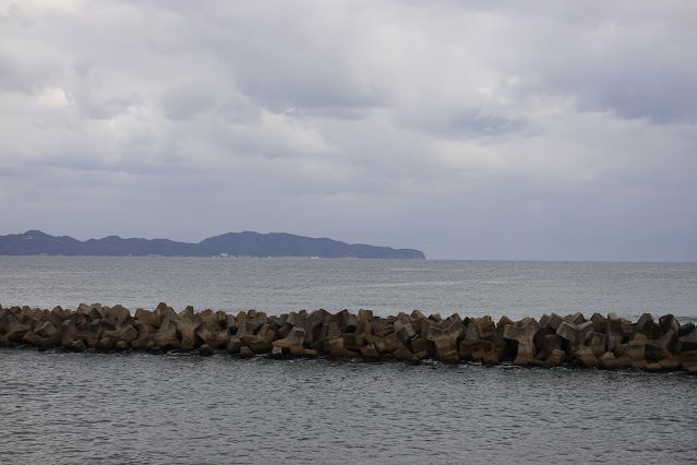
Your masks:
[{"label": "distant dark blue hilly headland along the horizon", "polygon": [[80,241],[39,230],[0,236],[0,255],[163,255],[163,257],[317,257],[323,259],[425,259],[420,250],[295,236],[285,233],[228,233],[199,243],[169,239],[103,239]]}]

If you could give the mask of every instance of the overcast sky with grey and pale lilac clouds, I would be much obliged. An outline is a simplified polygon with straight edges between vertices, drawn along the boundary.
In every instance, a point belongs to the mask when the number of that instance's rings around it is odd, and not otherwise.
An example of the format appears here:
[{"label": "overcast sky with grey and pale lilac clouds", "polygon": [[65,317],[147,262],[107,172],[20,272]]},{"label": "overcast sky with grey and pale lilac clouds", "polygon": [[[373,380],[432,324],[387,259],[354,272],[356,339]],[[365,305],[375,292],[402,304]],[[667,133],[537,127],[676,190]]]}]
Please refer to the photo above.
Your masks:
[{"label": "overcast sky with grey and pale lilac clouds", "polygon": [[0,235],[697,261],[697,3],[0,0]]}]

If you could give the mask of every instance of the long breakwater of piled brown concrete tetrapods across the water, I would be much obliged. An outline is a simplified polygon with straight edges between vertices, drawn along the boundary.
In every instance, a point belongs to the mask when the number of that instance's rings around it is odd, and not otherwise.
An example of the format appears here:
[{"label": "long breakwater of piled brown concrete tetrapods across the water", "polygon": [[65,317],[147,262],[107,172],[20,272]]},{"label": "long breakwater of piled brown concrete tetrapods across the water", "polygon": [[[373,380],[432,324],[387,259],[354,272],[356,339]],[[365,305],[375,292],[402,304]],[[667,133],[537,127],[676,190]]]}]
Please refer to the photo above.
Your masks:
[{"label": "long breakwater of piled brown concrete tetrapods across the water", "polygon": [[0,306],[0,346],[35,346],[72,351],[170,350],[226,353],[238,357],[358,358],[419,363],[478,361],[484,365],[684,370],[697,374],[697,329],[666,314],[632,322],[616,314],[552,313],[539,321],[503,317],[429,317],[414,310],[387,318],[371,310],[237,315],[192,307],[177,312],[166,303],[133,315],[121,307],[81,303],[70,310]]}]

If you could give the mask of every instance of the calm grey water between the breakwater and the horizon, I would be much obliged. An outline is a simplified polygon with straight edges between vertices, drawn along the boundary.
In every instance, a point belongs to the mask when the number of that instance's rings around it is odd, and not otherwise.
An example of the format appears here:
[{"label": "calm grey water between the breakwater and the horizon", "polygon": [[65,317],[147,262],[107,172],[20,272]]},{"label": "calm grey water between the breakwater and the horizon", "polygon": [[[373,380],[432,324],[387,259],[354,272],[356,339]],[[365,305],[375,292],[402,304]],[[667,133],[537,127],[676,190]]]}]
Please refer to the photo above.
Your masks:
[{"label": "calm grey water between the breakwater and the horizon", "polygon": [[697,318],[697,263],[0,257],[0,305]]}]

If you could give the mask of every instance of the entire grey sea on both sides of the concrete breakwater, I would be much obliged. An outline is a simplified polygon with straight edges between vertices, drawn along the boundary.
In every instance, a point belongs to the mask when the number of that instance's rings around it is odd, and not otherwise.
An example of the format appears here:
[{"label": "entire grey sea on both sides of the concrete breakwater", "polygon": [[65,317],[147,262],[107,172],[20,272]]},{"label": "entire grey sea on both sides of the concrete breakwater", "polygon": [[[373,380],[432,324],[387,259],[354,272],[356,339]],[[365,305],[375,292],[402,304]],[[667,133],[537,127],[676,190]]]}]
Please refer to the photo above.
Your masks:
[{"label": "entire grey sea on both sides of the concrete breakwater", "polygon": [[[697,322],[697,263],[0,257],[0,305]],[[697,463],[697,377],[0,349],[0,463]]]}]

